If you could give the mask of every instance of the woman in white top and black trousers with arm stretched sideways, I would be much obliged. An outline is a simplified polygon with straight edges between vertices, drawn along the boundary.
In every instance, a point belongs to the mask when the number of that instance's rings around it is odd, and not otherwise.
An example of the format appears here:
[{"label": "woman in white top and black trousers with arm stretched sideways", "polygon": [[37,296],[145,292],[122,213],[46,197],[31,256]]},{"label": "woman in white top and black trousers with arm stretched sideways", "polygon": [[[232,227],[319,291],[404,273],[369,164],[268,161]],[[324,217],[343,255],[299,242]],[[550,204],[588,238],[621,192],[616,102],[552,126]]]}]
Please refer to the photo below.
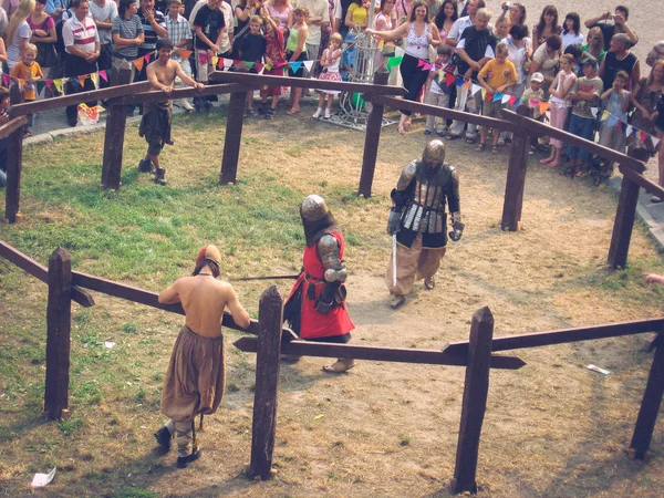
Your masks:
[{"label": "woman in white top and black trousers with arm stretched sideways", "polygon": [[[488,22],[488,21],[487,21]],[[369,34],[376,35],[383,40],[398,40],[406,37],[407,46],[404,59],[401,63],[401,74],[406,87],[404,98],[407,101],[417,100],[419,91],[427,80],[427,72],[419,68],[421,60],[428,59],[429,44],[438,46],[440,37],[438,28],[428,20],[428,7],[422,1],[416,1],[411,13],[409,21],[392,31],[366,30]],[[398,123],[398,133],[406,133],[411,126],[411,111],[402,110]]]}]

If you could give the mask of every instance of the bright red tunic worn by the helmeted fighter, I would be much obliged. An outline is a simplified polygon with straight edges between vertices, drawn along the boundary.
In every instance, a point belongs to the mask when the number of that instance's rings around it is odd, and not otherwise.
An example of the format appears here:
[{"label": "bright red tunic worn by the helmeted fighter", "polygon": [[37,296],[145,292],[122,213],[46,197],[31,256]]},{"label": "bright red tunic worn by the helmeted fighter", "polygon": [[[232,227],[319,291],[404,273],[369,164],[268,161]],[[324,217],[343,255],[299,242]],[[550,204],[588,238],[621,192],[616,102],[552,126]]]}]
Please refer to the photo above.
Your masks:
[{"label": "bright red tunic worn by the helmeted fighter", "polygon": [[[339,231],[332,231],[329,235],[334,237],[339,242],[339,259],[343,259],[343,249],[345,242],[343,235]],[[330,338],[333,335],[343,335],[355,329],[355,325],[349,317],[349,309],[345,303],[341,307],[333,308],[328,314],[319,313],[313,307],[315,300],[323,291],[325,287],[324,273],[325,268],[318,253],[318,245],[313,247],[307,246],[304,248],[304,256],[302,257],[302,266],[304,271],[300,273],[298,281],[293,286],[290,295],[290,300],[298,288],[302,287],[302,299],[301,299],[301,328],[300,336],[302,339],[319,339]],[[309,288],[312,287],[314,291],[314,299],[309,299]]]}]

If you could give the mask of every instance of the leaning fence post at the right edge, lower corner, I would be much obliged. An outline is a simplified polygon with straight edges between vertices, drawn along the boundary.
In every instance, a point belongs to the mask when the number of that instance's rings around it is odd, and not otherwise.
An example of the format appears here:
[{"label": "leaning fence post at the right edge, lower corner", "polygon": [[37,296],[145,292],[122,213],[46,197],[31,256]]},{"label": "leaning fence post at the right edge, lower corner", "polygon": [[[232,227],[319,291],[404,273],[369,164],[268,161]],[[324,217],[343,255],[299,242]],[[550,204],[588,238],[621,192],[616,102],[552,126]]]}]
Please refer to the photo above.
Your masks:
[{"label": "leaning fence post at the right edge, lower corner", "polygon": [[662,405],[662,395],[664,395],[664,332],[657,336],[656,344],[643,402],[634,426],[634,435],[630,443],[630,454],[636,459],[643,459],[650,447],[657,413]]}]

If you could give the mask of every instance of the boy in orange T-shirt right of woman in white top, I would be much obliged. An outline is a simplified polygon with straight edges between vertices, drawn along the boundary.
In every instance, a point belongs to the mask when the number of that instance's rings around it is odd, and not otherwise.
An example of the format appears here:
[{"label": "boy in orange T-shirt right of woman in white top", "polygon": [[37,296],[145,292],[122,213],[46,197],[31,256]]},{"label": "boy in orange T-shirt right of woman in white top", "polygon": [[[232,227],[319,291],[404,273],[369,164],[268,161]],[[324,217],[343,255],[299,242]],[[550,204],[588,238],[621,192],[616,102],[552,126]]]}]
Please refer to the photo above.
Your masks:
[{"label": "boy in orange T-shirt right of woman in white top", "polygon": [[[496,59],[491,59],[485,64],[481,71],[477,74],[479,84],[487,91],[487,97],[481,106],[481,114],[484,116],[497,116],[498,111],[502,108],[502,101],[498,100],[494,102],[494,94],[505,93],[507,89],[517,84],[517,69],[511,61],[507,59],[507,45],[505,43],[498,43],[496,45]],[[488,77],[488,80],[485,80]],[[500,132],[492,129],[494,146],[491,147],[492,154],[498,154],[498,139],[500,138]],[[481,152],[487,146],[487,128],[481,126],[479,129],[479,145],[475,151]]]}]

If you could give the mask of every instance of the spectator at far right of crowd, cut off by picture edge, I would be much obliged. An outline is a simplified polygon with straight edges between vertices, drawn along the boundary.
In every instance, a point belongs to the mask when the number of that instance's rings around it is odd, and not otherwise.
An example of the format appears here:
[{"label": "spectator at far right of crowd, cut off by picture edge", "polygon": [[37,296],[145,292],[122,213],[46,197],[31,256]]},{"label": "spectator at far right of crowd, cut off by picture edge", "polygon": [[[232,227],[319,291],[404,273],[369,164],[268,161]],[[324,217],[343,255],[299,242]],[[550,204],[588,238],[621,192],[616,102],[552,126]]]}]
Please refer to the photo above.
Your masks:
[{"label": "spectator at far right of crowd, cut off by picture edge", "polygon": [[[656,147],[653,144],[652,136],[657,135],[655,120],[657,117],[657,102],[664,94],[664,60],[658,60],[653,64],[650,76],[642,77],[632,91],[632,102],[636,110],[632,114],[630,124],[642,132],[647,133],[645,139],[641,138],[641,134],[636,133],[627,139],[630,146],[630,155],[637,159],[647,162],[650,156],[654,156]],[[652,135],[652,136],[651,136]],[[664,186],[664,154],[660,145],[660,178],[658,184]],[[661,203],[661,198],[655,196],[654,203]]]}]

